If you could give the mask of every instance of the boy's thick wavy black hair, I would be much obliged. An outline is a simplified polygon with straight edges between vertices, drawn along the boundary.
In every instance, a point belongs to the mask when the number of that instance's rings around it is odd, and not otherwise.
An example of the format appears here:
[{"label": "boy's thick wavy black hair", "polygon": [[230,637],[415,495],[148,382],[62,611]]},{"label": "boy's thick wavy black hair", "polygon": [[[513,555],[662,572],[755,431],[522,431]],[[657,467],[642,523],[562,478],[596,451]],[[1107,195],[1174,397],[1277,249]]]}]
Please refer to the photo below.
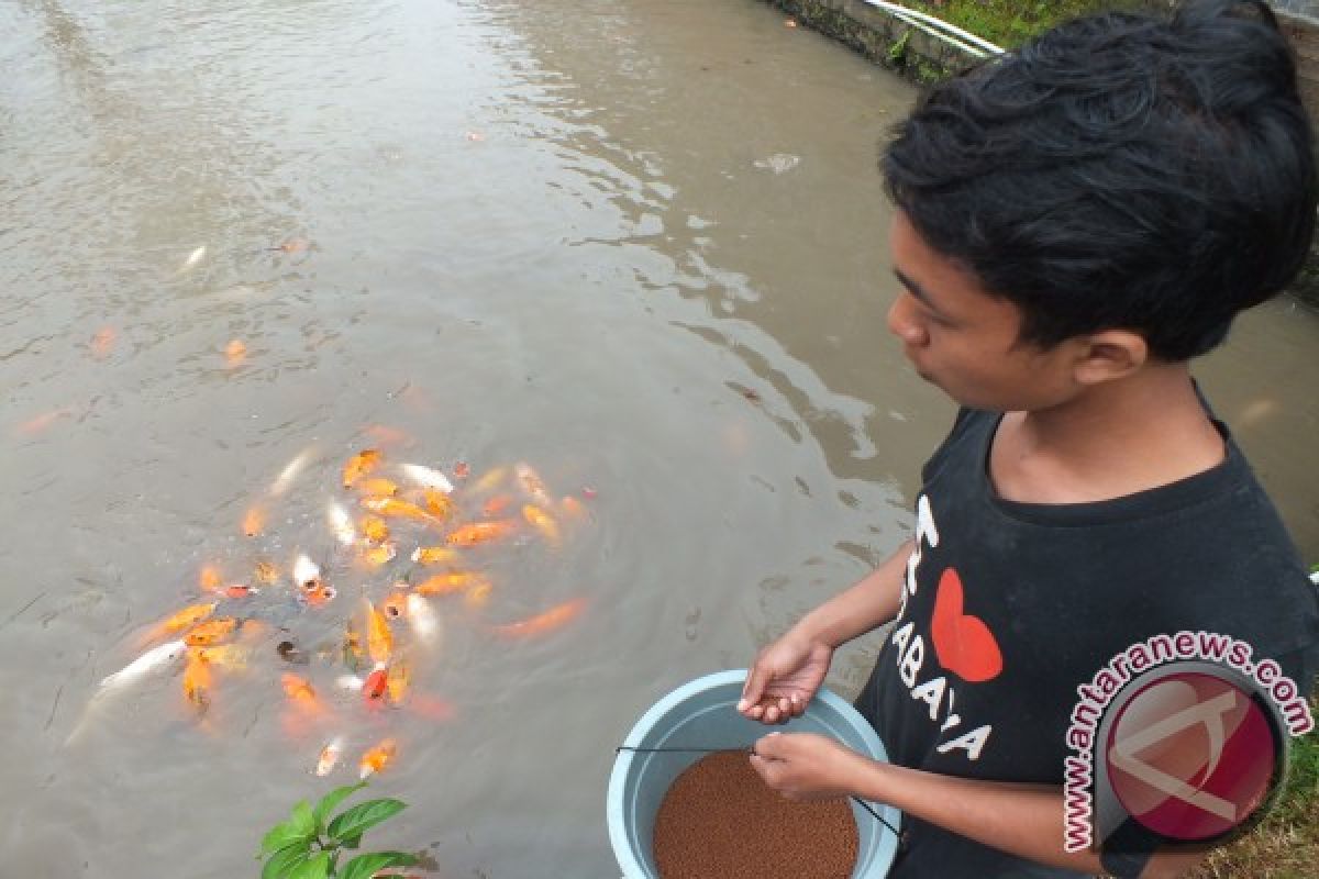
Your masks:
[{"label": "boy's thick wavy black hair", "polygon": [[935,250],[1018,306],[1021,341],[1140,332],[1183,361],[1299,271],[1310,120],[1268,5],[1059,25],[930,91],[881,162]]}]

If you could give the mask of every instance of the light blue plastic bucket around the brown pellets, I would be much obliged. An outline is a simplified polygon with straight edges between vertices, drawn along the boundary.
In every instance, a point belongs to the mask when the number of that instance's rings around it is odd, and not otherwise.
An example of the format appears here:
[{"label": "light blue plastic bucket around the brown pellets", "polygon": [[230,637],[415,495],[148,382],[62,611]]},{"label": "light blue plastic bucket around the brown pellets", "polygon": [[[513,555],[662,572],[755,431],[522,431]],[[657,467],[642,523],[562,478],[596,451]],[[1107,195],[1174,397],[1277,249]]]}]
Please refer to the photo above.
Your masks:
[{"label": "light blue plastic bucket around the brown pellets", "polygon": [[[874,729],[838,695],[823,687],[807,705],[806,713],[781,726],[765,726],[737,713],[745,669],[715,672],[683,684],[648,710],[628,734],[624,747],[751,747],[772,731],[819,733],[876,760],[888,754]],[[656,814],[674,779],[702,754],[645,754],[620,751],[609,775],[605,816],[609,842],[625,879],[660,879],[654,862]],[[901,813],[889,805],[872,803],[872,808],[894,828]],[[888,875],[897,851],[893,832],[869,812],[852,803],[852,814],[860,836],[860,850],[852,879],[876,879]]]}]

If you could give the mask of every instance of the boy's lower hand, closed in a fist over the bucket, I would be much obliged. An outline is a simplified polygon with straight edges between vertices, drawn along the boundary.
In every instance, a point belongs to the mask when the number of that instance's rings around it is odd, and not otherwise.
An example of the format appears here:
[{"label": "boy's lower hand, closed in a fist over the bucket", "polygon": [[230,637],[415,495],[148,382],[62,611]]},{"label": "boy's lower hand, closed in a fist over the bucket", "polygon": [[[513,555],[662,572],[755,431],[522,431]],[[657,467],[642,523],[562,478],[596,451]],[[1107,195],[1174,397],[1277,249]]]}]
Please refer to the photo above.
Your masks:
[{"label": "boy's lower hand, closed in a fist over the bucket", "polygon": [[814,733],[770,733],[756,742],[751,764],[791,800],[832,800],[849,796],[857,760],[865,758],[839,742]]}]

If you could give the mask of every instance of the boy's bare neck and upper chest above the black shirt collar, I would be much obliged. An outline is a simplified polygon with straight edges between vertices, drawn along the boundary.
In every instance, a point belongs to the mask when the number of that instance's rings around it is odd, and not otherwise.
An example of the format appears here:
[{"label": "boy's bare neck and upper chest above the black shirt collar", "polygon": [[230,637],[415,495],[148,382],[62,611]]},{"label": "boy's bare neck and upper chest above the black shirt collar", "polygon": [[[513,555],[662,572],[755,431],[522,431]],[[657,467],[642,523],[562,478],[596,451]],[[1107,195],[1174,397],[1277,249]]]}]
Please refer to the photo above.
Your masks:
[{"label": "boy's bare neck and upper chest above the black shirt collar", "polygon": [[1006,499],[1083,503],[1175,482],[1224,456],[1190,368],[1170,364],[1092,386],[1053,409],[1009,412],[989,470]]}]

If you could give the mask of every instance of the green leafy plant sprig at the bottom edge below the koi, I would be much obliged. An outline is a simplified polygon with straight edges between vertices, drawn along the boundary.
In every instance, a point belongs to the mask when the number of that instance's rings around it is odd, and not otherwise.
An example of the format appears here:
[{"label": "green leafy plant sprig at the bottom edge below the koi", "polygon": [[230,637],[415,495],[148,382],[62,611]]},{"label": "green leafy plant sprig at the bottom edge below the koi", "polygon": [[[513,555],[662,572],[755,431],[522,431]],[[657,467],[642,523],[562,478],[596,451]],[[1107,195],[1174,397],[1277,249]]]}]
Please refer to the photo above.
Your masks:
[{"label": "green leafy plant sprig at the bottom edge below the koi", "polygon": [[335,807],[364,787],[365,781],[335,788],[315,807],[299,800],[289,820],[270,828],[261,839],[257,858],[266,858],[261,879],[371,879],[389,867],[415,865],[417,855],[405,851],[368,851],[339,865],[346,849],[361,847],[367,830],[406,808],[402,800],[367,800],[330,817]]}]

